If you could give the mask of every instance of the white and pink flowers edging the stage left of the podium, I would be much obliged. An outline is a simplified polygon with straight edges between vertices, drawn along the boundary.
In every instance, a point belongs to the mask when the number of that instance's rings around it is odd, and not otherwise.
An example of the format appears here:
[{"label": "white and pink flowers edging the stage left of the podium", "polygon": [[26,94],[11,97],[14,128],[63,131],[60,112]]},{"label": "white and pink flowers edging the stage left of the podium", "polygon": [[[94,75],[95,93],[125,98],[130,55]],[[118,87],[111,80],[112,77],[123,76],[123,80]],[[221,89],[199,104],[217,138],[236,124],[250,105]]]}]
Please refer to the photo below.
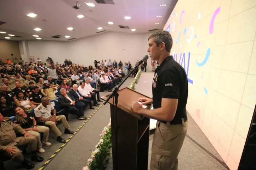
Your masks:
[{"label": "white and pink flowers edging the stage left of the podium", "polygon": [[[95,157],[95,155],[96,155],[96,153],[98,153],[98,155],[101,155],[101,150],[100,150],[100,148],[102,147],[102,145],[103,145],[103,143],[104,143],[104,136],[106,136],[107,134],[109,134],[110,133],[110,135],[111,135],[111,131],[109,130],[111,128],[111,118],[109,119],[109,123],[108,123],[108,125],[106,126],[106,127],[104,127],[104,129],[103,129],[103,131],[102,131],[102,133],[99,135],[99,136],[101,136],[101,139],[99,140],[99,142],[95,145],[95,150],[94,151],[92,151],[92,153],[91,153],[91,158],[89,158],[88,160],[87,160],[87,166],[85,166],[84,168],[83,168],[83,170],[94,170],[93,169],[93,167],[91,167],[90,165],[91,165],[91,163],[93,162],[93,161],[95,161],[95,159],[97,159],[97,157]],[[104,161],[106,161],[108,158],[105,158],[105,160]],[[103,162],[104,162],[103,161]],[[104,163],[102,163],[102,164],[104,164]],[[91,169],[90,169],[91,168]]]}]

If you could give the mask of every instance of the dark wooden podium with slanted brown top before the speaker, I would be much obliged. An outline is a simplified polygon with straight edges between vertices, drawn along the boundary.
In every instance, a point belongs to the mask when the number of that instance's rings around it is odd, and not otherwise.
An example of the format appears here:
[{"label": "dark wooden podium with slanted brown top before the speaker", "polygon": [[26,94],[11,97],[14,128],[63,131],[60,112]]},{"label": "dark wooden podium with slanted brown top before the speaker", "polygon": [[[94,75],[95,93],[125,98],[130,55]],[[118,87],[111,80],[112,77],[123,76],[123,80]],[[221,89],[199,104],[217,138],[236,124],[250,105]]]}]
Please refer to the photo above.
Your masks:
[{"label": "dark wooden podium with slanted brown top before the speaker", "polygon": [[[147,96],[127,87],[119,90],[118,94],[117,115],[113,98],[108,102],[111,112],[113,170],[147,170],[149,118],[131,110],[132,102]],[[101,98],[106,101],[108,97]]]}]

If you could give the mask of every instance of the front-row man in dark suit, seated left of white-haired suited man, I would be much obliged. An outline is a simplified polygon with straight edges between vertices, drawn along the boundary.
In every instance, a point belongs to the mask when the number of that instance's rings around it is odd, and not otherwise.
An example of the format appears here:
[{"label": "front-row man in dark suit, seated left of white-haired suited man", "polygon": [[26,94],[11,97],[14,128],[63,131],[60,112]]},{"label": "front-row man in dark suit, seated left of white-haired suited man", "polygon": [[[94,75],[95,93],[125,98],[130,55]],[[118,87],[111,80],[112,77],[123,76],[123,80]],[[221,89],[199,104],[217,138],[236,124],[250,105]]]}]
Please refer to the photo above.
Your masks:
[{"label": "front-row man in dark suit, seated left of white-haired suited man", "polygon": [[[66,108],[69,113],[75,114],[80,120],[87,119],[84,116],[84,109],[86,108],[85,103],[75,100],[75,98],[67,93],[66,89],[60,90],[61,95],[58,97],[58,102],[61,107]],[[83,97],[82,97],[83,98]]]}]

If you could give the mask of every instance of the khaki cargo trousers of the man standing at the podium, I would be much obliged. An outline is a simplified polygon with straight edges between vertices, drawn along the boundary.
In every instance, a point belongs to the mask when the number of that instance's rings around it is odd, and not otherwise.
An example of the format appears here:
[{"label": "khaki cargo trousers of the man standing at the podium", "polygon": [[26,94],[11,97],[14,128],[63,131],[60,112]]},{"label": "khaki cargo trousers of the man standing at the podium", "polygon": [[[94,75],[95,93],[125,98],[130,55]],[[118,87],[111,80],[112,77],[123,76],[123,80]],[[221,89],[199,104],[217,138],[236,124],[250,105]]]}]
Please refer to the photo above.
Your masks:
[{"label": "khaki cargo trousers of the man standing at the podium", "polygon": [[157,121],[153,137],[150,170],[177,170],[178,154],[187,134],[187,121],[170,125]]}]

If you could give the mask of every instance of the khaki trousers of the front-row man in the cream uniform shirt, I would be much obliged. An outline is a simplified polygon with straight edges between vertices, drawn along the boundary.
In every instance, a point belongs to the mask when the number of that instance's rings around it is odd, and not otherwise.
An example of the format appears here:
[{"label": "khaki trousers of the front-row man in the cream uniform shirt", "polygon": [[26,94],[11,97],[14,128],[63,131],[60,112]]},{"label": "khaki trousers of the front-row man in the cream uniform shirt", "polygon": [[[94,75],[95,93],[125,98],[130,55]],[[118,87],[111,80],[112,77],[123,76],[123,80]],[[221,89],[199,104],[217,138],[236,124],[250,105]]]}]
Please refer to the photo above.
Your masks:
[{"label": "khaki trousers of the front-row man in the cream uniform shirt", "polygon": [[[49,117],[49,119],[51,119],[51,118],[52,118],[52,116]],[[65,129],[69,128],[68,122],[64,115],[56,116],[56,120],[61,121],[62,125]],[[57,125],[55,122],[47,121],[47,122],[45,122],[45,125],[50,126],[51,130],[55,133],[56,137],[58,137],[62,134],[61,131],[59,131],[59,129],[57,128]]]}]

